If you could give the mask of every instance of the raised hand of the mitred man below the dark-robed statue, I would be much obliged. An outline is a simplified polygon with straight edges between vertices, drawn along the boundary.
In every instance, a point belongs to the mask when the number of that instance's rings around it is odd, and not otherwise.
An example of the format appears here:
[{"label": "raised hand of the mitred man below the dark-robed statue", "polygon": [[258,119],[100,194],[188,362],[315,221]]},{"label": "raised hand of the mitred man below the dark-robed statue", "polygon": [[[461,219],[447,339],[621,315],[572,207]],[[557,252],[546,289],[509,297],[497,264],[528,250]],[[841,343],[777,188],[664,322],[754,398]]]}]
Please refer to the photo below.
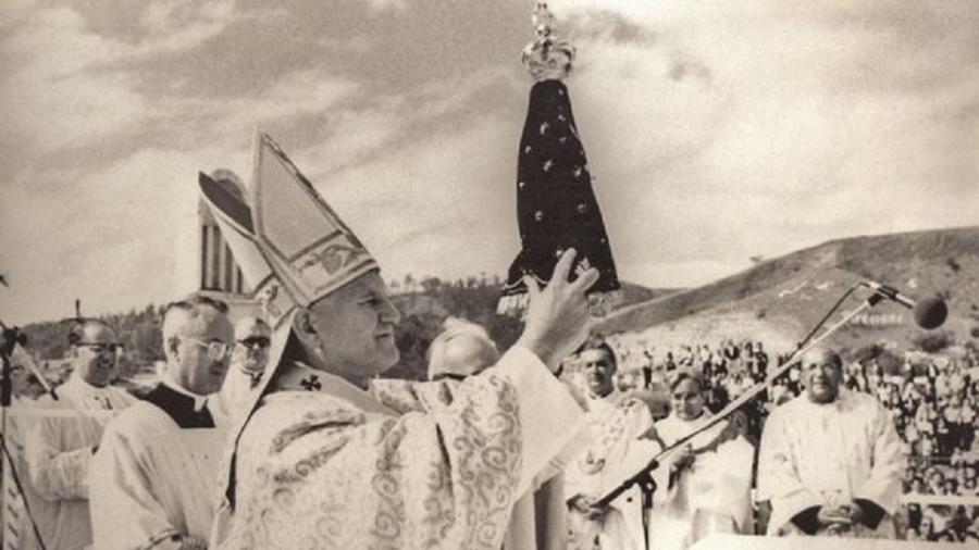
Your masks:
[{"label": "raised hand of the mitred man below the dark-robed statue", "polygon": [[523,279],[530,304],[526,326],[518,343],[536,353],[552,371],[584,342],[591,327],[585,291],[598,280],[598,271],[585,270],[578,279],[569,282],[575,255],[574,249],[561,254],[550,282],[543,289],[533,277]]}]

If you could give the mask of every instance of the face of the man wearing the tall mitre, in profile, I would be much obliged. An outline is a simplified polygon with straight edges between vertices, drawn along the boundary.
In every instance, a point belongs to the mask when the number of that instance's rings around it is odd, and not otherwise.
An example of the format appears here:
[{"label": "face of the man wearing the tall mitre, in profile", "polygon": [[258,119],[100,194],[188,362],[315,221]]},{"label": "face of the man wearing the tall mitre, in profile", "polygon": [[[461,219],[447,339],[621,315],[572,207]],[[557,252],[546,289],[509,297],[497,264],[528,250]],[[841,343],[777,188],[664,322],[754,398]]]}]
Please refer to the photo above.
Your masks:
[{"label": "face of the man wearing the tall mitre, in profile", "polygon": [[367,380],[398,362],[395,326],[401,314],[377,272],[361,275],[308,309],[317,360],[349,382]]}]

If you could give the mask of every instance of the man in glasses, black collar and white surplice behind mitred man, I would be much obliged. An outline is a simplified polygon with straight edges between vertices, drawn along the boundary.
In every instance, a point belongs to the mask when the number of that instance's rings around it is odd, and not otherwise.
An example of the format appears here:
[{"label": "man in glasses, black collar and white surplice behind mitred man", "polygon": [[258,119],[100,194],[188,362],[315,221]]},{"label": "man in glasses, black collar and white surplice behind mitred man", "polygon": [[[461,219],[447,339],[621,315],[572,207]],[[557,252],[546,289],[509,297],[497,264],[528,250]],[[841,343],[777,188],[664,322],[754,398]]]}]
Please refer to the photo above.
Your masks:
[{"label": "man in glasses, black collar and white surplice behind mitred man", "polygon": [[162,380],[109,424],[94,459],[94,548],[207,548],[227,434],[208,403],[234,341],[226,313],[203,296],[166,308]]}]

